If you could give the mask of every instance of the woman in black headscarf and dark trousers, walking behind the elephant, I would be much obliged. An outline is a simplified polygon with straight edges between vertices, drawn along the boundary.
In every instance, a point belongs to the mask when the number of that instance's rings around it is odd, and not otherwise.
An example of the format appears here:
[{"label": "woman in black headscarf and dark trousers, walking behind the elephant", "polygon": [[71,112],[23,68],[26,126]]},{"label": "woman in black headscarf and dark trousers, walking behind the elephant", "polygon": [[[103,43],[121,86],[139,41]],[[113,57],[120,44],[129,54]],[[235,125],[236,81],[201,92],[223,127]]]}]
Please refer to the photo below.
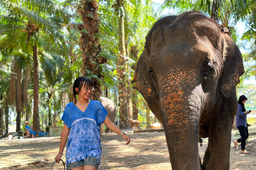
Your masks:
[{"label": "woman in black headscarf and dark trousers, walking behind the elephant", "polygon": [[238,149],[238,143],[241,142],[241,153],[249,154],[250,152],[245,150],[245,141],[249,136],[248,133],[248,124],[246,115],[249,114],[249,111],[246,111],[244,103],[247,101],[245,95],[239,97],[238,100],[238,109],[236,112],[236,128],[238,128],[241,138],[234,141],[235,148]]}]

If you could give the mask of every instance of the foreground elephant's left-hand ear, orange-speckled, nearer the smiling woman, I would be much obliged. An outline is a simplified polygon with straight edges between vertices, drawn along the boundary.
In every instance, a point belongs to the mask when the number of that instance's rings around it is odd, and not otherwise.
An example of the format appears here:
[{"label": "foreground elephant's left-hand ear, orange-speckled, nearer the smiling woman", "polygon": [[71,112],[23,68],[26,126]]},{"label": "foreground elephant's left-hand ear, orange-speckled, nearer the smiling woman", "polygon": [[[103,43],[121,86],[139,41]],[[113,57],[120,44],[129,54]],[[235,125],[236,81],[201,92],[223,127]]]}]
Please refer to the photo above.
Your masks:
[{"label": "foreground elephant's left-hand ear, orange-speckled, nearer the smiling woman", "polygon": [[156,88],[148,69],[147,47],[144,48],[140,55],[136,71],[131,82],[136,82],[136,85],[133,88],[140,92],[148,104],[153,104],[156,101]]}]

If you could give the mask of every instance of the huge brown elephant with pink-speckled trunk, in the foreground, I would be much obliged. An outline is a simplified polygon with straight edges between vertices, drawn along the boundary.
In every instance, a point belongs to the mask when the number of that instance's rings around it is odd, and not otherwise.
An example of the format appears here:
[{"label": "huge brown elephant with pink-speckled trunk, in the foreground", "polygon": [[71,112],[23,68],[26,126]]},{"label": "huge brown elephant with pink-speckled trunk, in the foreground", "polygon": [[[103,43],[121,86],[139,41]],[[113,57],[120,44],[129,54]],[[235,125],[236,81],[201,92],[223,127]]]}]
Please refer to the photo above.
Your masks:
[{"label": "huge brown elephant with pink-speckled trunk, in the foreground", "polygon": [[[227,170],[241,52],[228,29],[199,12],[158,20],[133,80],[165,130],[173,170]],[[198,141],[208,137],[201,163]]]}]

